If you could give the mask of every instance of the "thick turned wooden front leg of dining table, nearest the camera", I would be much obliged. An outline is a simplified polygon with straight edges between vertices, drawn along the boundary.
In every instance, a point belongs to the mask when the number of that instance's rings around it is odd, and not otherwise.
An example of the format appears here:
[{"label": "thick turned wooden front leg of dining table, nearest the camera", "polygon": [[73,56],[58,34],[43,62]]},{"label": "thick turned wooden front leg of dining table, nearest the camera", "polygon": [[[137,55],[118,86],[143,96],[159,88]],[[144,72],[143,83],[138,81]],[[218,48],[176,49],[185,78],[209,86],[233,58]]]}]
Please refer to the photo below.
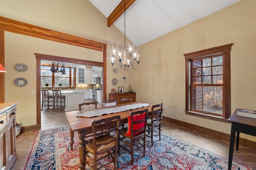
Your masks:
[{"label": "thick turned wooden front leg of dining table, nearest the camera", "polygon": [[78,131],[78,139],[79,139],[78,151],[79,151],[79,160],[80,160],[80,164],[79,164],[80,170],[85,170],[85,166],[84,166],[85,135],[86,135],[85,131]]}]

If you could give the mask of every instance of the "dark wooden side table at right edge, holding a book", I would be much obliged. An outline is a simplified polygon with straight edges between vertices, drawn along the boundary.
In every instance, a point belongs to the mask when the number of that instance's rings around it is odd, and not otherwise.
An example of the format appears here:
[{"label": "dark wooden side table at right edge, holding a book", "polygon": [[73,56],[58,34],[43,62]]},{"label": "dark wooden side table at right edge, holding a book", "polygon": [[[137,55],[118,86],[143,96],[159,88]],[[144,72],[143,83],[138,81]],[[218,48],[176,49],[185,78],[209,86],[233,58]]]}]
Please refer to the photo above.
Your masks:
[{"label": "dark wooden side table at right edge, holding a book", "polygon": [[238,150],[240,132],[245,133],[247,135],[256,136],[256,119],[251,117],[236,115],[236,111],[234,111],[234,113],[228,119],[228,121],[232,123],[231,134],[230,134],[229,155],[228,155],[228,170],[231,170],[231,167],[232,167],[235,137],[236,137],[236,150]]}]

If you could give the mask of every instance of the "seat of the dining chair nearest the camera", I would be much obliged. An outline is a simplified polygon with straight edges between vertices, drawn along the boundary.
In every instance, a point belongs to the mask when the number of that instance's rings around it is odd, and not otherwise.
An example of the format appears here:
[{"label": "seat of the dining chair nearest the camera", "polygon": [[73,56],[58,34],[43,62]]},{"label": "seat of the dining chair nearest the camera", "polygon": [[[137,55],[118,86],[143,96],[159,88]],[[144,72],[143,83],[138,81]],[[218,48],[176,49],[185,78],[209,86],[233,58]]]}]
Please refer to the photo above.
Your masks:
[{"label": "seat of the dining chair nearest the camera", "polygon": [[[113,137],[111,135],[98,136],[98,137],[96,137],[96,144],[104,143],[104,142],[110,141],[112,139],[113,139]],[[114,148],[115,145],[116,145],[116,141],[111,142],[108,145],[102,145],[100,148],[97,148],[97,152],[98,152],[98,154],[105,153],[109,149]],[[92,139],[90,139],[88,141],[88,143],[86,143],[85,147],[86,147],[86,150],[88,150],[91,154],[94,153]]]}]

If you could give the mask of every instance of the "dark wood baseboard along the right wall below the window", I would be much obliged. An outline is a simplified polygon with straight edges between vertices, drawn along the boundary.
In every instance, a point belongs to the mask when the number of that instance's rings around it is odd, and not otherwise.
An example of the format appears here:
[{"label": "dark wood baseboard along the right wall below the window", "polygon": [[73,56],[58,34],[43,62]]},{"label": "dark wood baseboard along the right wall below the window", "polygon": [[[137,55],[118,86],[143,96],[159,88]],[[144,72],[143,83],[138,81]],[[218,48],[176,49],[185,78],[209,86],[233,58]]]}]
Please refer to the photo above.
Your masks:
[{"label": "dark wood baseboard along the right wall below the window", "polygon": [[[208,128],[205,128],[205,127],[202,127],[202,126],[198,126],[198,125],[194,125],[194,124],[187,123],[187,122],[184,122],[184,121],[172,119],[170,117],[163,116],[163,119],[171,121],[171,122],[176,123],[178,125],[182,125],[184,127],[188,127],[190,129],[194,129],[194,130],[202,132],[202,133],[207,133],[207,134],[210,134],[212,136],[216,136],[216,137],[219,137],[221,139],[225,139],[227,141],[230,141],[230,134],[227,134],[227,133],[222,133],[222,132],[215,131],[215,130],[212,130],[212,129],[208,129]],[[244,138],[240,137],[239,144],[244,145],[244,146],[249,147],[249,148],[256,149],[256,142],[250,141],[248,139],[244,139]]]}]

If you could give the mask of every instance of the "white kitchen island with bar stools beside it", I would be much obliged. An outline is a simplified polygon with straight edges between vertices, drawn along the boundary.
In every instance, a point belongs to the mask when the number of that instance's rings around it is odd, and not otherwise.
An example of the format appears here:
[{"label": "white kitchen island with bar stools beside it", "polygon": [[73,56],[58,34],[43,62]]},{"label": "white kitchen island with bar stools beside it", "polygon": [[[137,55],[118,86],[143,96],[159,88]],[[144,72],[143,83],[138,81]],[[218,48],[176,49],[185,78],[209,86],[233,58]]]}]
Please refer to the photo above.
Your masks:
[{"label": "white kitchen island with bar stools beside it", "polygon": [[[52,95],[52,90],[49,90],[49,95]],[[65,111],[78,110],[78,104],[84,103],[84,92],[80,90],[61,90],[61,95],[65,96]]]}]

